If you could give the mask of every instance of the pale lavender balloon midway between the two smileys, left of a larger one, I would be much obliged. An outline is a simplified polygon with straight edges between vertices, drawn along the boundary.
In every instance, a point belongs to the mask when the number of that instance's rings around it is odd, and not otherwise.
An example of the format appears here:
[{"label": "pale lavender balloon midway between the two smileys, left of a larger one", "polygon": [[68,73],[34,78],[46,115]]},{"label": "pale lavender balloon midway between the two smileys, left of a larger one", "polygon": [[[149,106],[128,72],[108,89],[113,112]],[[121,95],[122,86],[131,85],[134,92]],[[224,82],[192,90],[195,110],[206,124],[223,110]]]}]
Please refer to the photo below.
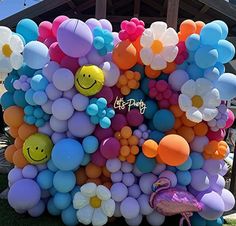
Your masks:
[{"label": "pale lavender balloon midway between the two smileys, left of a larger one", "polygon": [[74,113],[72,103],[67,98],[59,98],[52,104],[52,114],[58,120],[67,120]]}]

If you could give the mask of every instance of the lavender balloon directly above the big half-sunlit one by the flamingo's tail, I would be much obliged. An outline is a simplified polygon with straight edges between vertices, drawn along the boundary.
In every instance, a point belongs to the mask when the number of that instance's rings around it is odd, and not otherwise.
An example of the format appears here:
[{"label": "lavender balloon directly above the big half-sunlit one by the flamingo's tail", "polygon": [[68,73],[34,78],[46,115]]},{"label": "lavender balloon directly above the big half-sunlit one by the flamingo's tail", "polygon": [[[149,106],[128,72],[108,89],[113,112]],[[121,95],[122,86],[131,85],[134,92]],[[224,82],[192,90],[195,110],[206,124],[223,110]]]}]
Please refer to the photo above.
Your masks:
[{"label": "lavender balloon directly above the big half-sunlit one by the flamingo's tail", "polygon": [[210,181],[204,170],[191,170],[191,186],[197,191],[204,191],[210,187]]}]

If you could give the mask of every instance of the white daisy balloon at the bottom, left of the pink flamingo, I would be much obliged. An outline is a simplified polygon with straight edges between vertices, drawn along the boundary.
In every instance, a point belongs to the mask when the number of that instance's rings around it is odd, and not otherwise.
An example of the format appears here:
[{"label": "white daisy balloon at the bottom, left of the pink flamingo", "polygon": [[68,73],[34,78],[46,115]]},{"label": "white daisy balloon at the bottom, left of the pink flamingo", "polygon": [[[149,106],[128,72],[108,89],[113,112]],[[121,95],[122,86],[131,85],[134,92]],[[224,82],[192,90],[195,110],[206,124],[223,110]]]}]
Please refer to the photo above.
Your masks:
[{"label": "white daisy balloon at the bottom, left of the pink flamingo", "polygon": [[80,188],[74,196],[73,206],[78,209],[78,221],[85,225],[102,226],[115,212],[115,201],[111,199],[110,190],[95,183],[86,183]]}]

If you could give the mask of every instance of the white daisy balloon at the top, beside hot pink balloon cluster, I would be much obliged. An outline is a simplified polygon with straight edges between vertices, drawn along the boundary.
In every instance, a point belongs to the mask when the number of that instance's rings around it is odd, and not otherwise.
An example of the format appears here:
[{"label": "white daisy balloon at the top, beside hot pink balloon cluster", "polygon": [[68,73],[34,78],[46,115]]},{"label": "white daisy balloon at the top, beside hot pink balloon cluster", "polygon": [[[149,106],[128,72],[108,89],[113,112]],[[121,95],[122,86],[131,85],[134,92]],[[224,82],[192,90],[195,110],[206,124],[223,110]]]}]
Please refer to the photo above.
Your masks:
[{"label": "white daisy balloon at the top, beside hot pink balloon cluster", "polygon": [[153,70],[162,70],[167,62],[172,62],[178,54],[178,35],[173,28],[167,28],[165,22],[154,22],[143,32],[140,44],[143,47],[140,57],[145,65]]}]

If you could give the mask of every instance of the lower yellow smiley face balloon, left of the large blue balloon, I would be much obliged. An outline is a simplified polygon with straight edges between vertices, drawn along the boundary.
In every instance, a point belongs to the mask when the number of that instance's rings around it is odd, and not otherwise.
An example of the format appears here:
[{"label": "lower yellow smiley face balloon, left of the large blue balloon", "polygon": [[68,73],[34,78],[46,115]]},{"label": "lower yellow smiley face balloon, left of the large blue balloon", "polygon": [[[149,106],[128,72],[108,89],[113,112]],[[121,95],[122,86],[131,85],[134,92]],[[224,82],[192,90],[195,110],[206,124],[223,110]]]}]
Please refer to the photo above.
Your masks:
[{"label": "lower yellow smiley face balloon, left of the large blue balloon", "polygon": [[28,137],[23,145],[23,155],[31,164],[42,164],[51,157],[53,143],[49,136],[35,133]]}]

